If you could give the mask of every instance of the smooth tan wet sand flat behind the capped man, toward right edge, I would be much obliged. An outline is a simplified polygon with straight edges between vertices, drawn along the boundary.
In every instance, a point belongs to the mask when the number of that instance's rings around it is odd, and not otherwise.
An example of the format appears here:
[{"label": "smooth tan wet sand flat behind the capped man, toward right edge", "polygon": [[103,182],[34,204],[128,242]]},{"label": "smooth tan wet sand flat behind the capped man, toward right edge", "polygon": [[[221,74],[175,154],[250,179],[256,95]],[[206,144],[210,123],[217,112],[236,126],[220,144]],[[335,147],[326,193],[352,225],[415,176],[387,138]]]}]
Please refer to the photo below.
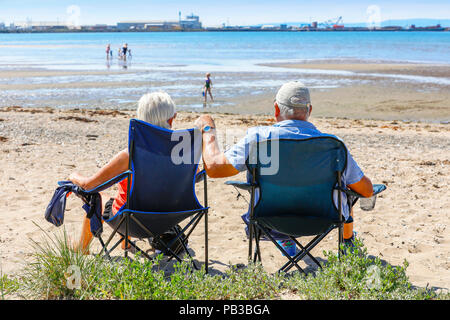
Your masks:
[{"label": "smooth tan wet sand flat behind the capped man, toward right edge", "polygon": [[[437,77],[450,81],[449,65],[424,65],[407,63],[367,63],[363,61],[332,60],[320,62],[269,64],[271,67],[350,71],[350,78],[359,79],[361,84],[337,88],[312,88],[311,100],[314,115],[318,117],[340,117],[351,119],[410,120],[426,122],[450,121],[450,90],[447,85],[420,82],[399,82],[391,75]],[[368,75],[377,74],[376,81],[365,84]],[[389,74],[384,78],[383,74]],[[328,79],[342,78],[342,75],[328,75]],[[347,76],[346,76],[347,77]],[[306,81],[307,77],[299,78]],[[230,113],[271,114],[274,92],[255,97],[238,97],[236,106],[220,108]],[[213,111],[213,109],[209,109]]]}]

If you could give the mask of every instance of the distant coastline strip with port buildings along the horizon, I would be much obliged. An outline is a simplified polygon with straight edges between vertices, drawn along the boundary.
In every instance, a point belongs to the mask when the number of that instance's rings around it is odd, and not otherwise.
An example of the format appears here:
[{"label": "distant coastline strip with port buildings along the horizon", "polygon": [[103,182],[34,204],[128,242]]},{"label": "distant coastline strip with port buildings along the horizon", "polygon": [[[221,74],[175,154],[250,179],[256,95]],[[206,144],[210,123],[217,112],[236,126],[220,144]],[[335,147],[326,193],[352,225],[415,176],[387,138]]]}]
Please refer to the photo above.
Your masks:
[{"label": "distant coastline strip with port buildings along the horizon", "polygon": [[125,20],[116,24],[84,24],[61,21],[0,22],[0,33],[91,33],[91,32],[329,32],[329,31],[450,31],[450,19],[385,20],[374,23],[344,24],[337,20],[266,23],[254,25],[204,26],[193,13],[178,20]]}]

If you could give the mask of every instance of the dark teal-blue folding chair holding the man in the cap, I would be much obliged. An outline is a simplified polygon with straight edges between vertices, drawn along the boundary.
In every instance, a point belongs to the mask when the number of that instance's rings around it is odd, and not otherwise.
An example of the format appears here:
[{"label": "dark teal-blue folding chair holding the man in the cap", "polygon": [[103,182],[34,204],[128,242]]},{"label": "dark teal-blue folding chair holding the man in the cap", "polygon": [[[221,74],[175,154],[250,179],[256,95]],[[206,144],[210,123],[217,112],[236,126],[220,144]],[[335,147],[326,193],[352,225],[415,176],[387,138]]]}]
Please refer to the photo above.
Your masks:
[{"label": "dark teal-blue folding chair holding the man in the cap", "polygon": [[[253,261],[261,262],[259,242],[263,236],[272,241],[289,260],[279,271],[288,272],[295,266],[304,272],[298,263],[306,256],[321,268],[310,251],[336,228],[339,229],[338,246],[341,248],[344,222],[351,222],[344,221],[343,197],[338,191],[348,193],[347,201],[350,205],[354,205],[358,197],[361,197],[342,185],[341,177],[347,166],[347,149],[342,141],[331,135],[302,140],[276,140],[277,146],[274,148],[273,144],[273,140],[268,140],[250,146],[250,156],[246,163],[250,182],[226,182],[251,194],[249,260],[252,259],[252,246],[255,242]],[[261,157],[260,150],[265,150],[264,157]],[[268,152],[270,150],[272,153],[279,152],[279,156],[271,157]],[[264,174],[264,170],[274,165],[272,161],[267,161],[268,158],[278,159],[276,174]],[[376,193],[385,188],[383,185],[374,186]],[[257,190],[259,199],[255,201]],[[337,206],[333,199],[335,196]],[[291,257],[277,243],[274,234],[284,235],[301,250]],[[304,236],[315,237],[303,246],[296,238]]]}]

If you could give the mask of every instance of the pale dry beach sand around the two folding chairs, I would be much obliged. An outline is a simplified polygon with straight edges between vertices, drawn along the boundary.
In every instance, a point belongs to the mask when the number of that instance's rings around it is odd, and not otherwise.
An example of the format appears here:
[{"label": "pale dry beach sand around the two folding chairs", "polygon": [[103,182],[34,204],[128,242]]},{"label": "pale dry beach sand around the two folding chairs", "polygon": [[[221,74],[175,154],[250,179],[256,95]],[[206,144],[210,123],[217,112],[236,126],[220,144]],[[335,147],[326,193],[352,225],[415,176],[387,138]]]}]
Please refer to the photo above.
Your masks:
[{"label": "pale dry beach sand around the two folding chairs", "polygon": [[[448,97],[442,99],[450,101]],[[314,111],[320,112],[320,107]],[[29,260],[32,252],[29,239],[40,241],[43,237],[39,227],[50,233],[61,230],[44,220],[57,181],[66,179],[73,171],[93,174],[125,148],[132,115],[133,112],[0,109],[3,272],[19,272]],[[175,128],[192,127],[197,116],[180,112]],[[273,121],[267,115],[213,116],[219,131],[242,131]],[[343,138],[366,175],[374,183],[388,187],[377,199],[375,210],[366,212],[359,206],[355,209],[355,229],[368,252],[393,265],[401,265],[406,259],[410,264],[408,275],[415,285],[449,288],[449,125],[317,116],[311,122],[321,131]],[[240,174],[231,179],[245,177]],[[208,180],[209,259],[213,272],[247,262],[248,242],[240,218],[247,203],[242,198],[236,199],[235,189],[224,185],[226,180]],[[109,193],[114,196],[115,189]],[[69,198],[65,228],[75,238],[83,219],[80,205],[78,198]],[[105,235],[109,234],[110,228],[105,230]],[[322,250],[336,251],[336,236],[333,232],[314,253],[323,258]],[[190,246],[195,258],[203,261],[203,223],[192,234]],[[275,248],[263,244],[263,264],[268,271],[275,271],[283,259]]]}]

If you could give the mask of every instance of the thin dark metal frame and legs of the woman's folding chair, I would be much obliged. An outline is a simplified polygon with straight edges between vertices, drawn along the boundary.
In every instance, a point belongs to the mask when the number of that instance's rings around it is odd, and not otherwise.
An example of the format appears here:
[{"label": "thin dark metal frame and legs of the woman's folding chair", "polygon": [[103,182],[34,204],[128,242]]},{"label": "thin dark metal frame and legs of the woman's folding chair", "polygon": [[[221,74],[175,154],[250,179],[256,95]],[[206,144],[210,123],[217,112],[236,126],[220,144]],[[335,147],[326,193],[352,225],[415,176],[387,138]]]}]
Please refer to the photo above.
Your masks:
[{"label": "thin dark metal frame and legs of the woman's folding chair", "polygon": [[[122,211],[119,223],[114,227],[111,235],[109,236],[108,240],[105,242],[103,241],[101,235],[98,235],[97,238],[102,246],[101,251],[98,253],[98,255],[105,255],[109,260],[111,260],[111,252],[117,248],[117,246],[122,242],[125,241],[125,250],[124,250],[124,257],[128,258],[128,247],[131,246],[135,249],[135,251],[138,251],[141,253],[144,257],[146,257],[149,260],[153,260],[150,255],[148,255],[145,251],[143,251],[141,248],[139,248],[135,243],[130,241],[129,239],[129,225],[130,222],[133,221],[136,223],[140,228],[142,228],[143,231],[145,231],[148,234],[148,237],[152,237],[154,241],[156,241],[159,245],[161,245],[164,249],[162,250],[164,254],[169,256],[169,260],[175,258],[177,261],[181,262],[181,257],[176,254],[172,249],[172,245],[177,241],[180,240],[181,245],[184,248],[184,252],[186,252],[189,256],[190,261],[192,262],[192,265],[194,269],[199,270],[200,268],[196,265],[194,259],[192,258],[191,254],[189,253],[189,250],[186,246],[186,242],[191,235],[192,231],[195,229],[195,227],[198,225],[200,220],[204,218],[205,220],[205,272],[208,273],[208,183],[207,183],[207,174],[206,171],[203,170],[196,174],[195,181],[200,182],[203,180],[204,185],[204,207],[201,209],[197,209],[192,211],[193,217],[191,218],[191,221],[186,224],[186,226],[180,231],[177,232],[177,235],[174,239],[172,239],[169,243],[164,242],[159,236],[155,236],[153,232],[151,232],[139,219],[135,216],[135,214],[130,210],[131,204],[131,177],[132,177],[132,154],[133,154],[133,148],[134,148],[134,140],[131,139],[130,141],[130,149],[129,149],[129,162],[128,162],[128,171],[127,173],[127,201],[125,203],[125,209]],[[116,218],[117,219],[117,218]],[[125,223],[125,233],[122,234],[119,232],[119,228],[122,226],[122,224]],[[181,239],[181,236],[186,232],[186,238]],[[120,236],[120,239],[108,250],[108,245],[113,240],[114,236],[118,234]],[[179,247],[178,247],[179,248]],[[178,249],[177,248],[177,249]],[[177,250],[176,249],[176,250]]]}]

